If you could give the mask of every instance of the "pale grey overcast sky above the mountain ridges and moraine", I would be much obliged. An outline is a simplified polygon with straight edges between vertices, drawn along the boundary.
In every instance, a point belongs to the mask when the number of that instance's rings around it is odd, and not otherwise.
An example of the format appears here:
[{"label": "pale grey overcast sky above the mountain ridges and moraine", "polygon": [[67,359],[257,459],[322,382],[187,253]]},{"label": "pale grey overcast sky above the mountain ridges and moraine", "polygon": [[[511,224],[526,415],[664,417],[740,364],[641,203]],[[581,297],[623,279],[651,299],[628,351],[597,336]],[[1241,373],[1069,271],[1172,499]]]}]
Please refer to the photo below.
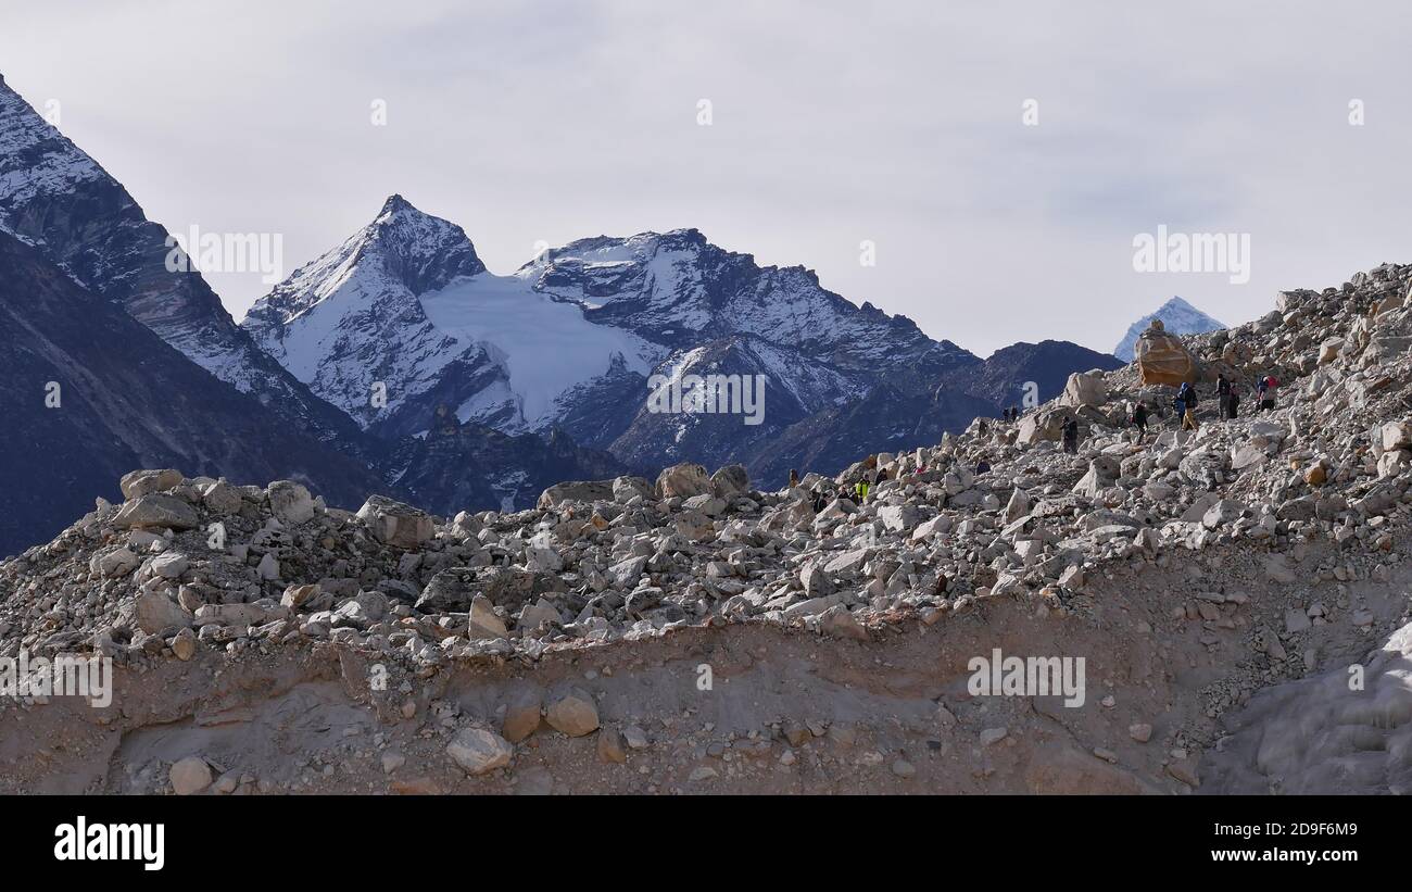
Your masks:
[{"label": "pale grey overcast sky above the mountain ridges and moraine", "polygon": [[[986,356],[1412,261],[1408,25],[1401,0],[6,0],[0,73],[150,217],[281,233],[285,272],[400,192],[496,272],[696,227]],[[1159,224],[1248,234],[1250,281],[1134,271]],[[236,318],[268,291],[209,278]]]}]

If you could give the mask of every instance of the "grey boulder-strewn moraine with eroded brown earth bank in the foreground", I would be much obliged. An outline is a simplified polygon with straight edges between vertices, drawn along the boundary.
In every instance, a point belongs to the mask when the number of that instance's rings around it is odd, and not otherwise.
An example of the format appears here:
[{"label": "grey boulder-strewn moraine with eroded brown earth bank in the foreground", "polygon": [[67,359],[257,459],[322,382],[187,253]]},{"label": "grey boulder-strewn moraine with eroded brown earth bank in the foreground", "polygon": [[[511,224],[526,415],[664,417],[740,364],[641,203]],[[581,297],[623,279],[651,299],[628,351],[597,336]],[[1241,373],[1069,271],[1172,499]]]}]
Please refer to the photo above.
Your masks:
[{"label": "grey boulder-strewn moraine with eroded brown earth bank in the foreground", "polygon": [[[1195,432],[1130,366],[775,493],[679,464],[441,518],[133,471],[0,565],[0,656],[110,656],[120,694],[0,703],[0,757],[44,754],[0,785],[1213,792],[1339,789],[1308,766],[1347,759],[1399,788],[1408,676],[1378,646],[1409,618],[1409,285],[1384,265],[1183,337]],[[1217,374],[1241,418],[1216,418]],[[1137,399],[1166,411],[1145,438]],[[1001,642],[1084,656],[1087,703],[971,697]],[[1309,713],[1358,734],[1291,755],[1299,679],[1364,661],[1375,700]]]}]

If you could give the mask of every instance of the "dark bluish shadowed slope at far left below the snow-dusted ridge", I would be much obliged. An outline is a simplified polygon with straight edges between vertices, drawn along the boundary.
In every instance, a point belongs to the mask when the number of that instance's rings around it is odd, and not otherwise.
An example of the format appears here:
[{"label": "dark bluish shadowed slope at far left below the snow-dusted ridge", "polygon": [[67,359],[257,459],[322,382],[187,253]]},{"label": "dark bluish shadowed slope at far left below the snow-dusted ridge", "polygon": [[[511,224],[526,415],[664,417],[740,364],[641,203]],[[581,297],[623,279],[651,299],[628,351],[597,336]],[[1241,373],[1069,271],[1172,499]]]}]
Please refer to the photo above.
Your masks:
[{"label": "dark bluish shadowed slope at far left below the snow-dusted ridge", "polygon": [[119,477],[138,466],[237,483],[288,477],[332,504],[381,486],[3,231],[0,411],[10,430],[0,440],[3,555],[54,535],[95,497],[120,498]]}]

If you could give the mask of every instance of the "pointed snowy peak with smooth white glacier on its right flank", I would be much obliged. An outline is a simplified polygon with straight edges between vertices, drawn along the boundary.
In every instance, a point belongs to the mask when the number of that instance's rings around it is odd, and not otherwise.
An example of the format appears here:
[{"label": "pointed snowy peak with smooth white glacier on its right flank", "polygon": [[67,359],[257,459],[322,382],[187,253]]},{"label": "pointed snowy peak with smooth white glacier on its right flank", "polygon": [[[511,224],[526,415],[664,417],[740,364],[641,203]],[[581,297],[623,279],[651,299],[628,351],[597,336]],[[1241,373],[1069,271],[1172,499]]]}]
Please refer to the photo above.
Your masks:
[{"label": "pointed snowy peak with smooth white glacier on its right flank", "polygon": [[462,422],[539,429],[566,391],[614,364],[645,371],[652,356],[524,278],[493,275],[459,226],[398,195],[243,325],[315,392],[391,435],[426,429],[439,405]]}]

